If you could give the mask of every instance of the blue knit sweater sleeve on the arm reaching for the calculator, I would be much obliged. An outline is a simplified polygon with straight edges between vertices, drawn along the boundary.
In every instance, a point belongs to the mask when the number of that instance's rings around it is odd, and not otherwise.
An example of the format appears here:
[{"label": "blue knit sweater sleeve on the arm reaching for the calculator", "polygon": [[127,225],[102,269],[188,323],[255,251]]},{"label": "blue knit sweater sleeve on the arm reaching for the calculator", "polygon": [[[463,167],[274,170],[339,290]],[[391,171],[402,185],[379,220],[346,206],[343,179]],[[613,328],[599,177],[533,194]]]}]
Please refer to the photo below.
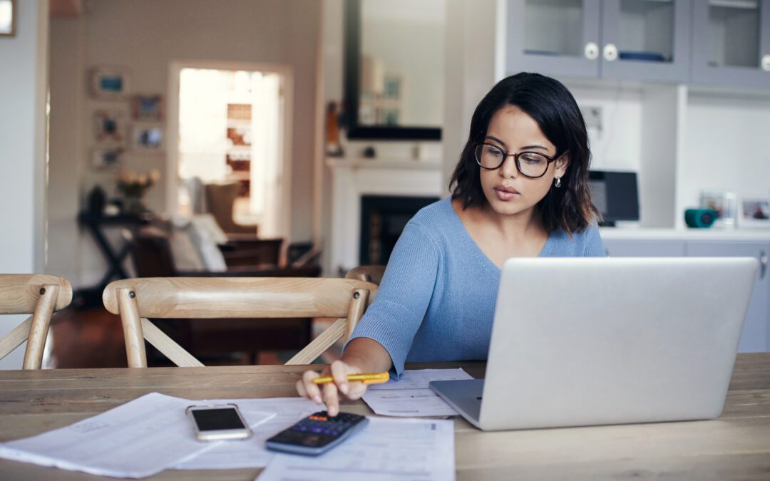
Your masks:
[{"label": "blue knit sweater sleeve on the arm reaching for the calculator", "polygon": [[433,296],[439,259],[427,229],[414,220],[408,222],[390,255],[377,297],[348,340],[367,337],[379,342],[390,354],[397,376]]}]

